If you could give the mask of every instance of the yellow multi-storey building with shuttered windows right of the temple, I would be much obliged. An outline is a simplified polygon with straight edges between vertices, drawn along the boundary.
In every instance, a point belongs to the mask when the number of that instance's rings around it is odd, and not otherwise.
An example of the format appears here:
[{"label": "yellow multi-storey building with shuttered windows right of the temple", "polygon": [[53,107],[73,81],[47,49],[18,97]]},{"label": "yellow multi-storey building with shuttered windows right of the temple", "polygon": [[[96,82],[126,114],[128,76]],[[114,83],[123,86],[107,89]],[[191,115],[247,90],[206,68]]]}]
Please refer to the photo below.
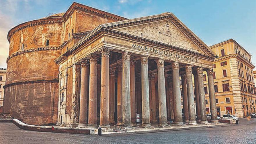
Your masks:
[{"label": "yellow multi-storey building with shuttered windows right of the temple", "polygon": [[[255,113],[256,93],[251,54],[235,40],[226,40],[209,47],[218,58],[214,60],[214,88],[218,116],[230,113],[239,118]],[[204,72],[205,93],[208,93]],[[207,112],[210,112],[206,94]]]}]

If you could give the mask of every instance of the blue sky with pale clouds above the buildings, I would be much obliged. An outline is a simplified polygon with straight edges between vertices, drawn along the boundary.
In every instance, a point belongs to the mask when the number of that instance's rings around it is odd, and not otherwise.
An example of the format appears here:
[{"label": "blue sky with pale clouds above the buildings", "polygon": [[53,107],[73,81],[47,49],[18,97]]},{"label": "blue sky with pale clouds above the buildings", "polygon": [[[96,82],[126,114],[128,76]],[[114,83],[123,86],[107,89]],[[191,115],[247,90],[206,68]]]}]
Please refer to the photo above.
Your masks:
[{"label": "blue sky with pale clouds above the buildings", "polygon": [[[256,0],[77,0],[126,18],[171,12],[208,46],[236,40],[256,66]],[[71,0],[0,0],[0,68],[6,68],[8,31],[14,26],[63,13]]]}]

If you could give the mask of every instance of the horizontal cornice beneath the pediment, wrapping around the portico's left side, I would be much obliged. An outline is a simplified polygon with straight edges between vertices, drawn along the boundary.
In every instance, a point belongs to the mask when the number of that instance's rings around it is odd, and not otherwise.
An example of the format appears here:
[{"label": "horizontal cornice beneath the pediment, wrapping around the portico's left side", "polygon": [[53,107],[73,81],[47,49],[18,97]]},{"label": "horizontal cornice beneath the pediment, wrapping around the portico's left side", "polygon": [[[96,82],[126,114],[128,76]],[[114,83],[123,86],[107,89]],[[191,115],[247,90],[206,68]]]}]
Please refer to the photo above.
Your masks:
[{"label": "horizontal cornice beneath the pediment, wrapping around the portico's left side", "polygon": [[[134,35],[130,35],[130,34],[127,34],[127,33],[122,33],[122,32],[119,32],[119,31],[114,31],[114,30],[106,29],[106,28],[100,28],[97,31],[95,31],[94,33],[90,33],[90,35],[87,35],[82,40],[77,42],[76,45],[74,45],[69,51],[66,51],[63,55],[67,56],[67,55],[70,55],[70,54],[73,54],[73,53],[77,52],[79,49],[81,49],[82,47],[87,45],[89,42],[93,41],[95,38],[98,38],[102,34],[112,35],[112,36],[119,37],[119,38],[125,38],[127,40],[133,40],[133,41],[136,41],[136,42],[146,43],[148,45],[152,45],[152,46],[155,46],[155,47],[162,47],[162,48],[165,48],[165,49],[174,50],[174,51],[177,51],[177,52],[181,52],[181,53],[185,53],[185,54],[189,54],[189,55],[193,55],[193,56],[198,56],[200,58],[209,59],[211,61],[213,61],[214,58],[215,58],[215,57],[212,57],[212,56],[207,56],[205,54],[200,54],[200,53],[195,52],[195,51],[182,49],[182,48],[171,46],[171,45],[164,44],[164,43],[161,43],[161,42],[141,38],[141,37],[138,37],[138,36],[134,36]],[[65,60],[65,58],[62,58],[62,56],[59,56],[55,61],[58,62],[58,63],[61,63],[63,60]]]}]

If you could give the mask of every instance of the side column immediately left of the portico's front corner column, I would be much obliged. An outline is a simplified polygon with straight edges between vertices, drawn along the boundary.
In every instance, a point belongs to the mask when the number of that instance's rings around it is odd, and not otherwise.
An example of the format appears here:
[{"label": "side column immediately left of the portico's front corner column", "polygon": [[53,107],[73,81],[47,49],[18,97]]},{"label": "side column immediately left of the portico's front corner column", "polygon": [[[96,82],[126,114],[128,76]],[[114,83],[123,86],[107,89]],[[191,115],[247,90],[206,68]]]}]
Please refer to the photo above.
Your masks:
[{"label": "side column immediately left of the portico's front corner column", "polygon": [[88,128],[97,127],[97,57],[90,54]]}]

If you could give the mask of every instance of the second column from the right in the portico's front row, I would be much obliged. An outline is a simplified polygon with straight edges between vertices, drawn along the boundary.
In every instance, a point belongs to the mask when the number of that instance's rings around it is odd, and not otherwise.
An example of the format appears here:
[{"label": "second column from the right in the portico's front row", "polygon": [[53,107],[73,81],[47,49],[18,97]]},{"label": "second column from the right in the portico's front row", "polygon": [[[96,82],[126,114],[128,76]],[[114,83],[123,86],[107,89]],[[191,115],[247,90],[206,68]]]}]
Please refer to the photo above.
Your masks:
[{"label": "second column from the right in the portico's front row", "polygon": [[208,124],[206,117],[206,104],[205,104],[205,90],[204,90],[204,78],[203,78],[203,68],[197,68],[198,74],[198,92],[199,92],[199,101],[200,101],[200,124]]}]

